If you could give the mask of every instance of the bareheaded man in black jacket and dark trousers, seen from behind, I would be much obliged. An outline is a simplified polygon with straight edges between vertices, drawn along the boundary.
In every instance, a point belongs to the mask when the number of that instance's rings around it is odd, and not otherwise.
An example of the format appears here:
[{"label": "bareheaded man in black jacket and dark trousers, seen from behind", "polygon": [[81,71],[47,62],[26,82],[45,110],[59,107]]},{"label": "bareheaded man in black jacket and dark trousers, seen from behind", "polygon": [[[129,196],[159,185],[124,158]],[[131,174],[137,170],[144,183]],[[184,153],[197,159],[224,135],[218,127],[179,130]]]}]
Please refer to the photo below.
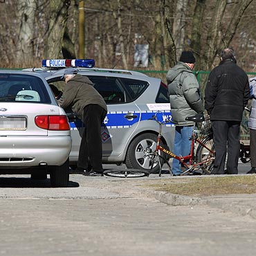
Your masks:
[{"label": "bareheaded man in black jacket and dark trousers, seen from behind", "polygon": [[236,64],[235,51],[226,48],[205,87],[205,109],[210,115],[216,151],[212,174],[224,174],[228,145],[227,172],[237,174],[239,127],[250,98],[248,76]]}]

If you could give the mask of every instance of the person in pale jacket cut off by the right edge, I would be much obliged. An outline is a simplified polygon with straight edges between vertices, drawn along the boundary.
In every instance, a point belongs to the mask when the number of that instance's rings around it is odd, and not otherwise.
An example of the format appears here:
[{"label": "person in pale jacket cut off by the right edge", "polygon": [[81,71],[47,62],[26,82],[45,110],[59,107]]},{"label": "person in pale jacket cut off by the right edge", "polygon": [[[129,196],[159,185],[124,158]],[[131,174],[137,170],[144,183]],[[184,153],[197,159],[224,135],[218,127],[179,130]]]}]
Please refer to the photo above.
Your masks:
[{"label": "person in pale jacket cut off by the right edge", "polygon": [[256,77],[250,78],[250,99],[252,100],[252,107],[250,109],[250,116],[248,120],[248,127],[250,129],[250,171],[247,174],[256,173]]}]

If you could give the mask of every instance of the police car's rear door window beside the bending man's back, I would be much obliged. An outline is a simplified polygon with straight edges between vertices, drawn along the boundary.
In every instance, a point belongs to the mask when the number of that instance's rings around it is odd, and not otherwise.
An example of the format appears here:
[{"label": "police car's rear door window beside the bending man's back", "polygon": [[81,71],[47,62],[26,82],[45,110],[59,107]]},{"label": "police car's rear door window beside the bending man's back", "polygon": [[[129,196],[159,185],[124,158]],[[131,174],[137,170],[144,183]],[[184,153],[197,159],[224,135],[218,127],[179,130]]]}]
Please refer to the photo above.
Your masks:
[{"label": "police car's rear door window beside the bending man's back", "polygon": [[107,104],[119,104],[125,102],[125,91],[118,82],[117,77],[89,76],[94,88],[102,95]]}]

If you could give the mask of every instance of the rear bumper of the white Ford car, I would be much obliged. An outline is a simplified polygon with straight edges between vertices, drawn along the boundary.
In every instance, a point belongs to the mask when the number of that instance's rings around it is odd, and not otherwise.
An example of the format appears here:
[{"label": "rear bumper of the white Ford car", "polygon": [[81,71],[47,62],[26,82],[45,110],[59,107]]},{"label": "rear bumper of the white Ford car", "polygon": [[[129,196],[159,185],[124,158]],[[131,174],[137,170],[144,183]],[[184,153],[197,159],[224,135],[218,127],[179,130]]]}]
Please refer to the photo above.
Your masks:
[{"label": "rear bumper of the white Ford car", "polygon": [[62,165],[71,151],[71,136],[0,138],[0,168]]}]

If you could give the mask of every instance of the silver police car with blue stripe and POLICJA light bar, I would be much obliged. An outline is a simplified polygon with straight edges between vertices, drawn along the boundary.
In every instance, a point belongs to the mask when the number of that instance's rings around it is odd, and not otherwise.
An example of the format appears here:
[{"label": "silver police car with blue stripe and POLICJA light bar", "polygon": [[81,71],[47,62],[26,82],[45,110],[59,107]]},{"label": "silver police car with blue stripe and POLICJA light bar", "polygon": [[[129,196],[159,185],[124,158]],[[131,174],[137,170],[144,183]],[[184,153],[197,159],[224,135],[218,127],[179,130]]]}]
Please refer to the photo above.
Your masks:
[{"label": "silver police car with blue stripe and POLICJA light bar", "polygon": [[[61,77],[66,67],[78,68],[94,83],[107,103],[107,117],[102,124],[103,163],[125,163],[127,168],[156,171],[156,163],[148,155],[156,148],[158,123],[150,120],[157,111],[158,119],[171,119],[166,85],[160,79],[127,70],[94,68],[94,60],[43,60],[42,68],[29,71],[44,75],[48,84],[64,89]],[[71,165],[77,163],[80,138],[84,124],[65,109],[71,127]],[[163,126],[162,141],[172,149],[174,125]]]}]

